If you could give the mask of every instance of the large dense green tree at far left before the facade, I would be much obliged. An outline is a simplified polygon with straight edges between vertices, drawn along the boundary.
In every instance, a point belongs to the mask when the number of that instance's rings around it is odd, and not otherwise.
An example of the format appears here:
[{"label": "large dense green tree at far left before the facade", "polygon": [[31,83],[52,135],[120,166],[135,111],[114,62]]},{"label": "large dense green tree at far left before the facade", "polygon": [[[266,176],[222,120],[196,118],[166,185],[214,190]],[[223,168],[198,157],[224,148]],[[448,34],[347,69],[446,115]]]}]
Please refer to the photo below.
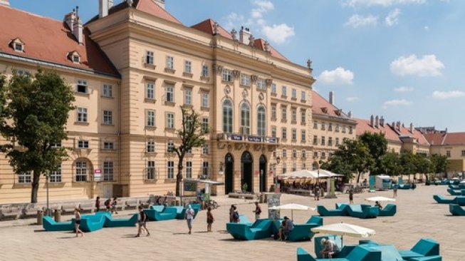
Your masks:
[{"label": "large dense green tree at far left before the facade", "polygon": [[66,122],[73,110],[73,91],[63,78],[51,71],[38,71],[35,76],[19,76],[14,72],[1,88],[6,98],[1,109],[0,133],[14,172],[32,173],[31,203],[37,203],[39,180],[56,170],[68,158],[65,148],[55,148],[68,138]]}]

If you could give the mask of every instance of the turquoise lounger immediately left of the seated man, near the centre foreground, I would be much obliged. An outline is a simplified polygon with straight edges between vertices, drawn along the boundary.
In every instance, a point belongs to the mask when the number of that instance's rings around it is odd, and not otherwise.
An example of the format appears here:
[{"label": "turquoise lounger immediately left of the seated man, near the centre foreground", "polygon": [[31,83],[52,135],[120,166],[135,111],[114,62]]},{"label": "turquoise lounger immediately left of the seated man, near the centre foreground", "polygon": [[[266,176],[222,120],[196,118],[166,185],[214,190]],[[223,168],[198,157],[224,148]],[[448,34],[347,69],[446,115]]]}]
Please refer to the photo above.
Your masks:
[{"label": "turquoise lounger immediately left of the seated man, near the centre foreground", "polygon": [[236,240],[259,240],[271,237],[273,233],[272,221],[268,219],[256,220],[253,225],[229,222],[226,230]]}]

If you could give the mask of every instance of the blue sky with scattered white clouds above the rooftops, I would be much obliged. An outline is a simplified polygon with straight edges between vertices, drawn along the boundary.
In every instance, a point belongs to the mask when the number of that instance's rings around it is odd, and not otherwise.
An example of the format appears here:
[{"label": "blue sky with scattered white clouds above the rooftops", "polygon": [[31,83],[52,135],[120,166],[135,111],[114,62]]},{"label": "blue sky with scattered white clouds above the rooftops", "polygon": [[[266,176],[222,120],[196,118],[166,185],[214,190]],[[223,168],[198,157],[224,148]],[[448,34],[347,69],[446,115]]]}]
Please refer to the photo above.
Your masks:
[{"label": "blue sky with scattered white clouds above the rooftops", "polygon": [[[55,19],[76,5],[85,21],[98,12],[98,0],[10,1]],[[248,26],[291,61],[310,58],[314,88],[357,118],[465,131],[463,0],[167,0],[167,10],[187,26]]]}]

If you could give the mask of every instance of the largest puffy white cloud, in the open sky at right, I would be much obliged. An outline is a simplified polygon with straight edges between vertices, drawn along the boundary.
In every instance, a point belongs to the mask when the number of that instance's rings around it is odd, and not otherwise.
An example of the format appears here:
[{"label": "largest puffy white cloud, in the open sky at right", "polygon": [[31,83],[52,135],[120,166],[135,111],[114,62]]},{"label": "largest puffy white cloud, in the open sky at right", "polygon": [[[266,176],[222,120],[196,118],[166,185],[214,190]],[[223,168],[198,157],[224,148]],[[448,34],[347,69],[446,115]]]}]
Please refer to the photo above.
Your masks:
[{"label": "largest puffy white cloud, in the open sky at right", "polygon": [[441,76],[444,63],[434,54],[417,58],[416,55],[400,56],[391,63],[391,71],[399,76]]}]

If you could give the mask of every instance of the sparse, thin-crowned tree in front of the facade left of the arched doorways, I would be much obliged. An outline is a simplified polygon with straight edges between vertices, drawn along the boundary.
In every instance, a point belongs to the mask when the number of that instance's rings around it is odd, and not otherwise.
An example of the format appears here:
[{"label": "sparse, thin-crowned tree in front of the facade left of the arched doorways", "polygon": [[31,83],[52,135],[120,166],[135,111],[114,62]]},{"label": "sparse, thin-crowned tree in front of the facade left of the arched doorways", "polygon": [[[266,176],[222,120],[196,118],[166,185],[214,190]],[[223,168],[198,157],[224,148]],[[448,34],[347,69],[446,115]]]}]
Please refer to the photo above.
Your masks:
[{"label": "sparse, thin-crowned tree in front of the facade left of the arched doorways", "polygon": [[176,134],[181,140],[179,146],[175,146],[172,151],[177,154],[179,159],[177,163],[176,175],[176,196],[181,195],[181,182],[182,170],[184,168],[183,162],[186,153],[192,148],[199,148],[204,146],[207,141],[204,138],[205,131],[202,129],[199,113],[194,110],[186,110],[181,107],[182,111],[182,128],[176,131]]}]

